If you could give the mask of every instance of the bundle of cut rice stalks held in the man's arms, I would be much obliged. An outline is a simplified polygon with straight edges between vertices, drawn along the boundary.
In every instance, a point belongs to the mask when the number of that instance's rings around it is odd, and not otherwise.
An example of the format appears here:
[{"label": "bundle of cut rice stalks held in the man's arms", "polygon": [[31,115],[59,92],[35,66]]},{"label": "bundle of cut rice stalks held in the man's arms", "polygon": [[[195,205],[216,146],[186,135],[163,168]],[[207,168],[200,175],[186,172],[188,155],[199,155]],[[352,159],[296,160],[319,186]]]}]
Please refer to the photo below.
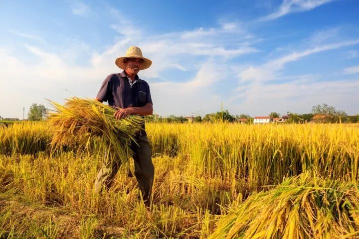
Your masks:
[{"label": "bundle of cut rice stalks held in the man's arms", "polygon": [[63,106],[50,102],[55,109],[48,119],[53,133],[51,147],[76,144],[79,148],[87,148],[91,138],[99,137],[102,148],[126,163],[132,153],[129,144],[141,129],[143,119],[130,116],[117,120],[116,109],[91,99],[66,101]]}]

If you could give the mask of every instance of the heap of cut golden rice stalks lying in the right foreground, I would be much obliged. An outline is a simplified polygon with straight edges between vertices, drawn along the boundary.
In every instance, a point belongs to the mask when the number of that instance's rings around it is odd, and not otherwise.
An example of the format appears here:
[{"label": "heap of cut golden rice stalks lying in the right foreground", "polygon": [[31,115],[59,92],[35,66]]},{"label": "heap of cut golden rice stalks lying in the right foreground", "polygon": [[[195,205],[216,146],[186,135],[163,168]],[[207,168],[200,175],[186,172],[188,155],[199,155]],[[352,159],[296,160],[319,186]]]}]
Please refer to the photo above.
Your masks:
[{"label": "heap of cut golden rice stalks lying in the right foreground", "polygon": [[359,238],[357,186],[308,173],[289,178],[232,207],[210,238]]}]

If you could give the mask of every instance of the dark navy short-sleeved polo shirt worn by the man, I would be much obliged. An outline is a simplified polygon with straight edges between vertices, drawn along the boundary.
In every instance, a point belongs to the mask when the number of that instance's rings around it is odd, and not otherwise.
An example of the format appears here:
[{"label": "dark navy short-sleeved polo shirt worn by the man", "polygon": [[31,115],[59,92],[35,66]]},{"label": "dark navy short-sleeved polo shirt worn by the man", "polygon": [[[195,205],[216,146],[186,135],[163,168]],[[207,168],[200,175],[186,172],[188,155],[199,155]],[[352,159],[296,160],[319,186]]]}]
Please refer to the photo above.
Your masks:
[{"label": "dark navy short-sleeved polo shirt worn by the man", "polygon": [[[111,74],[102,83],[97,98],[108,102],[109,106],[122,109],[153,104],[148,83],[140,79],[138,75],[135,76],[135,80],[137,82],[131,86],[125,71]],[[145,123],[143,124],[144,130]]]}]

